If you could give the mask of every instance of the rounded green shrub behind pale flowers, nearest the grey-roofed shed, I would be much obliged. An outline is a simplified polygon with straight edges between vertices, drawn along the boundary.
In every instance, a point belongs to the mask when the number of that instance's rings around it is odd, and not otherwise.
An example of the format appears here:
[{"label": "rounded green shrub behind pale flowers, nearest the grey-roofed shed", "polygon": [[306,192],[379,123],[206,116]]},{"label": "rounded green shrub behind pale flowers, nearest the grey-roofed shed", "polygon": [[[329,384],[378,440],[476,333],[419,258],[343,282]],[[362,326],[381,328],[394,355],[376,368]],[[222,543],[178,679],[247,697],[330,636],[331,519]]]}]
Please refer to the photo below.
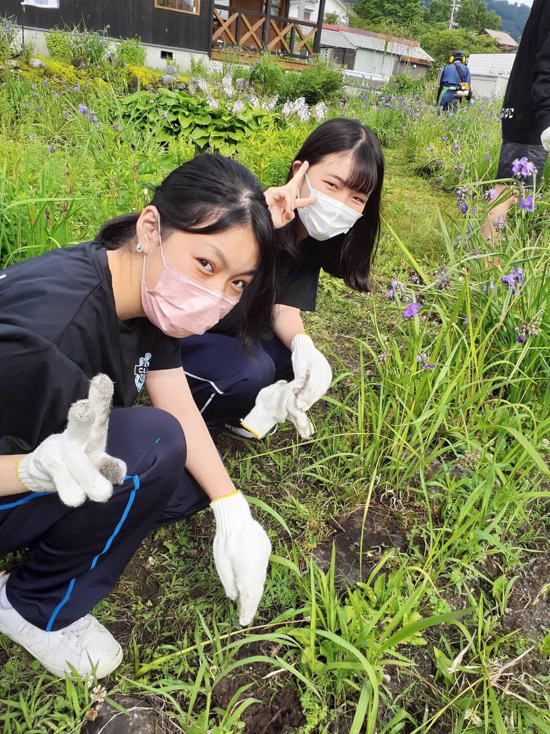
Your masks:
[{"label": "rounded green shrub behind pale flowers, nearest the grey-roofed shed", "polygon": [[304,97],[308,104],[330,101],[342,92],[342,67],[332,59],[314,57],[301,71],[289,71],[279,92],[281,101]]}]

